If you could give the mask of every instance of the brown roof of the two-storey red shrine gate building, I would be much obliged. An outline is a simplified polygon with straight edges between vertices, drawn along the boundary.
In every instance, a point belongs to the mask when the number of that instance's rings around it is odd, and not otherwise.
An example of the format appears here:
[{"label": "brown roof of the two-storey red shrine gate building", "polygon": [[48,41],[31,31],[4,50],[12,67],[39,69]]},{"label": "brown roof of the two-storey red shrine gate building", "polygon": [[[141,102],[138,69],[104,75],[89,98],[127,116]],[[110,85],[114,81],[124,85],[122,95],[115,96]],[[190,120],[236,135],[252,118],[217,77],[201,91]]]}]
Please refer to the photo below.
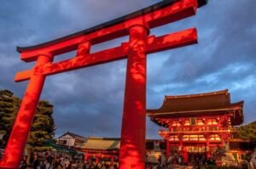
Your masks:
[{"label": "brown roof of the two-storey red shrine gate building", "polygon": [[243,101],[231,103],[229,90],[212,93],[165,96],[159,109],[147,110],[152,121],[155,118],[172,118],[184,115],[217,115],[233,111],[236,115],[231,119],[234,125],[243,121]]}]

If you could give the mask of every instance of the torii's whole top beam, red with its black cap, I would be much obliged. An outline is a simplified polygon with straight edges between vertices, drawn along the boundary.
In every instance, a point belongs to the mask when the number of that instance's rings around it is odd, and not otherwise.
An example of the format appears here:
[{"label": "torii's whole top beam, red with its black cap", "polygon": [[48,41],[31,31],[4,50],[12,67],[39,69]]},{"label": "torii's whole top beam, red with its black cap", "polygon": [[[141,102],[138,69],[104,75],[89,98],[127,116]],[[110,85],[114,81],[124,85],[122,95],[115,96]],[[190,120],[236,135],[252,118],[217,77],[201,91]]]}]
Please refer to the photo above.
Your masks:
[{"label": "torii's whole top beam, red with its black cap", "polygon": [[[176,3],[172,5],[173,3]],[[196,6],[207,4],[207,0],[195,0]],[[31,47],[17,47],[20,59],[31,62],[37,59],[38,54],[49,53],[53,55],[64,54],[78,48],[81,42],[96,44],[128,34],[130,25],[146,22],[149,28],[165,25],[176,20],[182,20],[195,14],[195,4],[189,0],[165,0],[148,8],[127,14],[115,20],[110,20],[101,25],[96,25],[84,31],[73,33],[50,42],[44,42]]]}]

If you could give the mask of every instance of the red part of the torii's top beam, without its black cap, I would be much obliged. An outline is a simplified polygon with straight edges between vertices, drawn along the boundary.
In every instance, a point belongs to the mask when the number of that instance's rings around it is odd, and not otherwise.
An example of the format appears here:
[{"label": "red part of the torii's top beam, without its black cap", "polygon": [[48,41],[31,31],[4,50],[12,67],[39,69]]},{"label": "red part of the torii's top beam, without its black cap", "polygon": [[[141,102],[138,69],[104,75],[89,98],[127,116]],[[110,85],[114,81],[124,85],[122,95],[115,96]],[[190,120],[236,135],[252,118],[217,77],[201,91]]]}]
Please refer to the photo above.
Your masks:
[{"label": "red part of the torii's top beam, without its black cap", "polygon": [[128,35],[127,29],[131,25],[140,25],[147,23],[150,28],[154,28],[160,25],[172,23],[177,20],[182,20],[195,14],[197,8],[197,0],[181,0],[177,3],[161,8],[149,14],[141,15],[131,20],[125,20],[125,22],[104,28],[99,31],[94,31],[90,34],[74,37],[72,39],[58,42],[50,45],[49,47],[40,48],[31,51],[24,51],[20,54],[20,59],[30,62],[37,59],[38,54],[50,53],[53,55],[64,54],[78,48],[81,42],[91,42],[96,44],[100,42],[106,42],[113,38],[123,37]]}]

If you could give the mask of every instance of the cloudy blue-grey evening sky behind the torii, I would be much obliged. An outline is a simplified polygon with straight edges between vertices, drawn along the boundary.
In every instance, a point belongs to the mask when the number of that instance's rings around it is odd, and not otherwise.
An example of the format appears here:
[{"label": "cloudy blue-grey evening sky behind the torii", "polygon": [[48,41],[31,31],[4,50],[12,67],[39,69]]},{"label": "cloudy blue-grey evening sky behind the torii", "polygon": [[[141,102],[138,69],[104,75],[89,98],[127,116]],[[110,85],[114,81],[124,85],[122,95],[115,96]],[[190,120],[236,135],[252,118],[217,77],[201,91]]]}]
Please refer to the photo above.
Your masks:
[{"label": "cloudy blue-grey evening sky behind the torii", "polygon": [[[20,60],[16,46],[32,46],[82,31],[159,0],[1,0],[0,90],[22,98],[27,82],[15,73],[34,63]],[[199,43],[148,55],[147,109],[158,109],[165,95],[229,89],[231,102],[244,100],[244,124],[256,120],[256,2],[209,0],[195,16],[154,28],[161,36],[191,27]],[[91,52],[127,42],[121,37],[92,47]],[[74,52],[55,57],[72,58]],[[41,99],[54,104],[55,137],[75,132],[84,137],[119,137],[126,60],[48,76]],[[147,138],[160,138],[147,117]]]}]

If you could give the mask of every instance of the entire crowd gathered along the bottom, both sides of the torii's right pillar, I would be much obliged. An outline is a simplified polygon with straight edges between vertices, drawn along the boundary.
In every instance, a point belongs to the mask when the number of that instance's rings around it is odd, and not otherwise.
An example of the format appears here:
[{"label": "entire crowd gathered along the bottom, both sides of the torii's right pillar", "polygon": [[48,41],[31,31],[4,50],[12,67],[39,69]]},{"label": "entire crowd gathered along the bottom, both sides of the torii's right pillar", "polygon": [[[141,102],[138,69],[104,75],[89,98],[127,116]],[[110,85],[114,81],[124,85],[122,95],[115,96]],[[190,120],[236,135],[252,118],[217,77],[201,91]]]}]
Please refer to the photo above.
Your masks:
[{"label": "entire crowd gathered along the bottom, both sides of the torii's right pillar", "polygon": [[[255,151],[256,152],[256,151]],[[213,155],[214,156],[214,155]],[[215,155],[216,156],[216,155]],[[256,154],[254,153],[252,160],[255,160]],[[1,154],[0,154],[1,157]],[[206,159],[205,155],[191,154],[189,155],[189,163],[183,163],[183,157],[178,154],[170,155],[169,158],[159,157],[158,163],[146,162],[146,169],[167,169],[173,166],[195,166],[195,168],[201,168],[200,166],[210,165],[214,166],[215,161],[213,158]],[[250,161],[250,165],[255,165],[255,161]],[[84,161],[84,155],[68,155],[63,153],[56,153],[53,151],[34,153],[30,155],[29,159],[24,156],[21,163],[20,169],[117,169],[118,164],[115,161],[112,164],[106,159],[102,161],[96,161],[94,158],[87,159]]]}]

